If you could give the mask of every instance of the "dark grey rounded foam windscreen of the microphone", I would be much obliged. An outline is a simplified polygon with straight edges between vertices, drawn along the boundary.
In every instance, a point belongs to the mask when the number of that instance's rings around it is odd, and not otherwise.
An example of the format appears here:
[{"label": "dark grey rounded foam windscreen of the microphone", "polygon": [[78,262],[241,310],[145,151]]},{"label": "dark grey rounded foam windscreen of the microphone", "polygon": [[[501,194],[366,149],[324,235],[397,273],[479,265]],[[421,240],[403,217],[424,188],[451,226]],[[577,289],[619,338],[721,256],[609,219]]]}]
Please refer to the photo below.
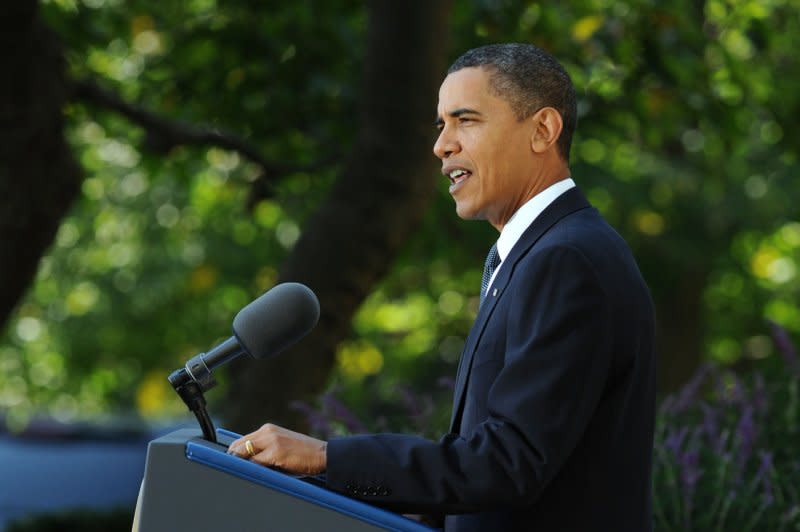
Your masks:
[{"label": "dark grey rounded foam windscreen of the microphone", "polygon": [[264,358],[300,340],[318,321],[314,292],[300,283],[281,283],[239,311],[233,334],[247,354]]}]

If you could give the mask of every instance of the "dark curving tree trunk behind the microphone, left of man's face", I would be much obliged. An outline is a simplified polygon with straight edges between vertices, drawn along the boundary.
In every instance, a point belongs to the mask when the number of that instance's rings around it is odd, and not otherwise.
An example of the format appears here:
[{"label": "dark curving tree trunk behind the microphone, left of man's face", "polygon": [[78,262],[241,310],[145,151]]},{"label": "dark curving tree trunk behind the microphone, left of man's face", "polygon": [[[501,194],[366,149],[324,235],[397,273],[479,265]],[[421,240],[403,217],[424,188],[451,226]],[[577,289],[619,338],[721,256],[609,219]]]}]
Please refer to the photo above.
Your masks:
[{"label": "dark curving tree trunk behind the microphone, left of man's face", "polygon": [[229,427],[249,431],[267,421],[303,426],[289,402],[324,388],[354,313],[443,183],[431,149],[449,7],[449,0],[369,4],[358,139],[280,275],[314,290],[319,325],[275,359],[231,365]]}]

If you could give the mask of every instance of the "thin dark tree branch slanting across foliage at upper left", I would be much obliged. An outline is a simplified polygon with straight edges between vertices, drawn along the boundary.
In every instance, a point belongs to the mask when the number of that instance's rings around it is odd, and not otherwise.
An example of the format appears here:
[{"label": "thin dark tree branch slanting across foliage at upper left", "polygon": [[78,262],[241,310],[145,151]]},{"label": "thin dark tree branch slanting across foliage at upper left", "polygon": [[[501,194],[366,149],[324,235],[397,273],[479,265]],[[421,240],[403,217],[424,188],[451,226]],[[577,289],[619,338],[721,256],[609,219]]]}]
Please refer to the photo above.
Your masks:
[{"label": "thin dark tree branch slanting across foliage at upper left", "polygon": [[117,112],[144,128],[147,132],[145,144],[150,150],[166,153],[176,146],[216,146],[235,151],[261,168],[261,175],[256,182],[262,181],[262,184],[274,182],[287,174],[318,170],[338,159],[326,157],[305,166],[276,163],[265,159],[251,142],[241,137],[158,116],[143,107],[126,102],[116,93],[100,87],[93,81],[73,80],[70,88],[71,100]]}]

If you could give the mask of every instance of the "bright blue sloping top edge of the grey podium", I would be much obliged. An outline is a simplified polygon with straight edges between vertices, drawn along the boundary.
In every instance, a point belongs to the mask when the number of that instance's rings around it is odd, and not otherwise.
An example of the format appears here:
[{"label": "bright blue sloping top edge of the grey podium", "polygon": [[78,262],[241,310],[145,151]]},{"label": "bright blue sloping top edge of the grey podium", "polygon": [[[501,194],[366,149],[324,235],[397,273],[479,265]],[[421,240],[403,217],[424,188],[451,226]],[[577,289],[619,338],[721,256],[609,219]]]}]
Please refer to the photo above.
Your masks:
[{"label": "bright blue sloping top edge of the grey podium", "polygon": [[[217,436],[238,439],[239,434],[217,429]],[[269,469],[238,456],[229,455],[205,440],[186,442],[186,458],[224,473],[255,482],[281,493],[322,506],[366,523],[398,532],[435,530],[401,515],[340,495],[299,478]]]}]

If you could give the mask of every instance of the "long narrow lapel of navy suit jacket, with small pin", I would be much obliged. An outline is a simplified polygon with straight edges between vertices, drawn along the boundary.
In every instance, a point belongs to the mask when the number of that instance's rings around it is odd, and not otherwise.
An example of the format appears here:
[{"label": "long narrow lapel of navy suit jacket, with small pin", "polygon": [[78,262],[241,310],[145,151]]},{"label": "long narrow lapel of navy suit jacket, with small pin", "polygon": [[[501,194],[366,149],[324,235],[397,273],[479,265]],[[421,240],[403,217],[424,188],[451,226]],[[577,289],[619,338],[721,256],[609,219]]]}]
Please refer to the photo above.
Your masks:
[{"label": "long narrow lapel of navy suit jacket, with small pin", "polygon": [[456,374],[455,390],[453,391],[453,414],[450,418],[450,431],[458,432],[461,425],[461,414],[464,410],[464,397],[466,395],[467,383],[472,370],[472,360],[475,351],[480,343],[486,324],[494,312],[500,297],[505,292],[506,286],[511,281],[516,269],[517,262],[527,254],[528,250],[559,220],[572,214],[575,211],[589,207],[583,193],[577,188],[572,188],[556,198],[553,203],[547,206],[542,213],[525,230],[520,239],[511,248],[506,259],[500,265],[500,271],[494,282],[489,287],[486,299],[478,310],[475,323],[472,324],[464,350],[461,353],[461,361]]}]

